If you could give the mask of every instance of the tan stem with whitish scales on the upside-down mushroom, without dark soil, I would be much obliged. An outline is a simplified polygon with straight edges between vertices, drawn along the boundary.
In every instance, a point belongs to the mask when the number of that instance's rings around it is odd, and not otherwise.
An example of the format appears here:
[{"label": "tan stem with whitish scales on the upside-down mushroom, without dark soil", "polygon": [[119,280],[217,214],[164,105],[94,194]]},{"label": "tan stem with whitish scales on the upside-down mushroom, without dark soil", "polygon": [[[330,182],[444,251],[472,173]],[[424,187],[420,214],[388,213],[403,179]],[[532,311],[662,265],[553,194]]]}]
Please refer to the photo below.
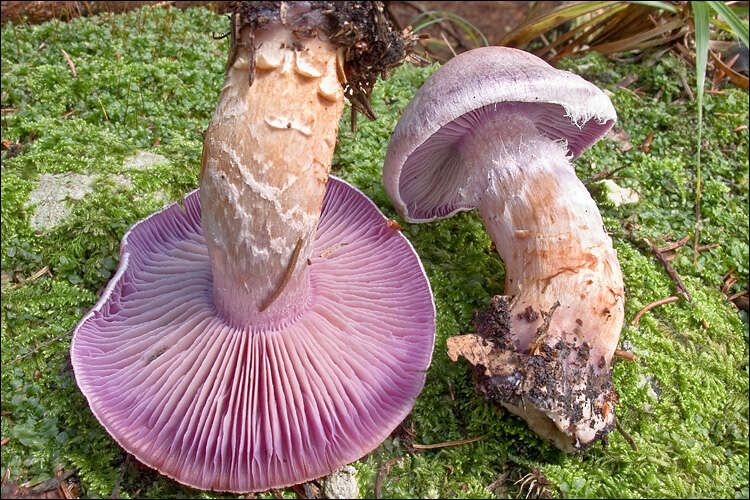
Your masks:
[{"label": "tan stem with whitish scales on the upside-down mushroom, without dark soil", "polygon": [[336,50],[274,24],[230,60],[204,134],[200,195],[214,302],[231,324],[262,329],[306,307],[308,266],[292,258],[311,254],[343,111]]}]

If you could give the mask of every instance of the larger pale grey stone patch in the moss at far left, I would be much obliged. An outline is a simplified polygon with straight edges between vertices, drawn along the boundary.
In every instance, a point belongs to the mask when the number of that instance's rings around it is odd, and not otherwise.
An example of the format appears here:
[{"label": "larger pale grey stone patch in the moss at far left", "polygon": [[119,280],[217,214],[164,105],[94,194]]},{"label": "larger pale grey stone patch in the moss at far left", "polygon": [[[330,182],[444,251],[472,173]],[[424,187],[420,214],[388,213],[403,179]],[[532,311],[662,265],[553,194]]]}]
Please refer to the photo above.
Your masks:
[{"label": "larger pale grey stone patch in the moss at far left", "polygon": [[42,174],[29,195],[27,206],[36,205],[29,225],[43,230],[59,224],[72,209],[66,200],[80,200],[92,191],[95,177],[85,174]]}]

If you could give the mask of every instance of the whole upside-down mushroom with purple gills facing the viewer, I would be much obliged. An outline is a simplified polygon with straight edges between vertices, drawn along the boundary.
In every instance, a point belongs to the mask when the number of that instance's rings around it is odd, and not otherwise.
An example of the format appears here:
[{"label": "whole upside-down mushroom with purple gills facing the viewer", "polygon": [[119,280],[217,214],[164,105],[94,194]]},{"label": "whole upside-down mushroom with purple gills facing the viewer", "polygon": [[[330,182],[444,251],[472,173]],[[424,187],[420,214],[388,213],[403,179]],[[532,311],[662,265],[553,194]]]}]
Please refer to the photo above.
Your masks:
[{"label": "whole upside-down mushroom with purple gills facing the viewer", "polygon": [[[382,5],[234,9],[200,191],[125,234],[71,358],[127,452],[189,486],[244,493],[378,446],[424,385],[435,307],[406,238],[328,175],[342,64],[364,82],[351,95],[372,81],[341,46],[378,46]],[[403,51],[401,34],[379,47],[399,40]],[[398,62],[369,55],[378,74]]]}]

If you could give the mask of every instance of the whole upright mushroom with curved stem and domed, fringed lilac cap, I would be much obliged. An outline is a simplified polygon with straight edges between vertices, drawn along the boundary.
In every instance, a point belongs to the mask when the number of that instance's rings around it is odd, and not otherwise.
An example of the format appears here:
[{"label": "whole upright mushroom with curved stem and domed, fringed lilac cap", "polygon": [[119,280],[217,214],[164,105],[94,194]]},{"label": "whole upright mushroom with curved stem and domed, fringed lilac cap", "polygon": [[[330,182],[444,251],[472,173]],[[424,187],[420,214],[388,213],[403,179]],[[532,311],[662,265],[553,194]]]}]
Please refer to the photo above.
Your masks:
[{"label": "whole upright mushroom with curved stem and domed, fringed lilac cap", "polygon": [[615,419],[622,273],[571,161],[616,118],[577,75],[521,50],[474,49],[416,93],[383,171],[409,222],[479,209],[505,263],[505,296],[475,314],[474,334],[448,339],[448,354],[466,357],[482,393],[568,452]]}]

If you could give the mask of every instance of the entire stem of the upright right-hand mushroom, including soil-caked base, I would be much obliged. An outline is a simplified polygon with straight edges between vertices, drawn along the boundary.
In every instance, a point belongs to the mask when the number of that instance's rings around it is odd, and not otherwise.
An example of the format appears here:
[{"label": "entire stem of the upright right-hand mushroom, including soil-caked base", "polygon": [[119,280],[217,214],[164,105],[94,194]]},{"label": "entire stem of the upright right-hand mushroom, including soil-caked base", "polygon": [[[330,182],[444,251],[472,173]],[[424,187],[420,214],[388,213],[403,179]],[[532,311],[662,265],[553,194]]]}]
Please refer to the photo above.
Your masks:
[{"label": "entire stem of the upright right-hand mushroom, including soil-caked base", "polygon": [[[617,396],[609,367],[624,317],[622,273],[566,145],[521,114],[497,116],[465,143],[466,151],[485,154],[465,161],[471,172],[486,172],[487,158],[493,163],[478,201],[505,263],[505,294],[513,296],[501,345],[517,353],[511,359],[518,373],[536,386],[503,404],[572,451],[613,425],[609,410]],[[533,362],[537,357],[541,364]],[[557,387],[534,401],[548,378]]]}]

